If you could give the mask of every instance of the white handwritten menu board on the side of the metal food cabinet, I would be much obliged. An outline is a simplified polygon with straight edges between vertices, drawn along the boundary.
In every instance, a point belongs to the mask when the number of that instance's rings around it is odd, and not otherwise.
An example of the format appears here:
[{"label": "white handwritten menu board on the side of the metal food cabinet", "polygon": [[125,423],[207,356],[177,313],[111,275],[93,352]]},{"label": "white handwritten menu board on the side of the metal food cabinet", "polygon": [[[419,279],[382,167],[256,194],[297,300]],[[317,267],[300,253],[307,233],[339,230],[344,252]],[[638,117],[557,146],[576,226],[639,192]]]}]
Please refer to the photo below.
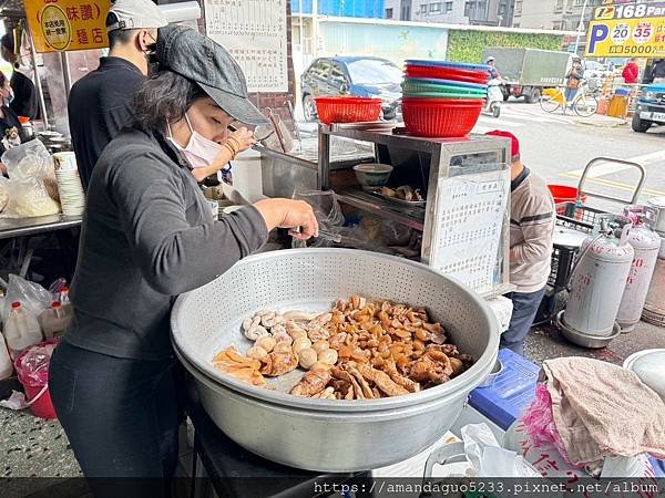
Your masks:
[{"label": "white handwritten menu board on the side of the metal food cabinet", "polygon": [[509,190],[508,170],[440,178],[430,266],[477,292],[492,290]]}]

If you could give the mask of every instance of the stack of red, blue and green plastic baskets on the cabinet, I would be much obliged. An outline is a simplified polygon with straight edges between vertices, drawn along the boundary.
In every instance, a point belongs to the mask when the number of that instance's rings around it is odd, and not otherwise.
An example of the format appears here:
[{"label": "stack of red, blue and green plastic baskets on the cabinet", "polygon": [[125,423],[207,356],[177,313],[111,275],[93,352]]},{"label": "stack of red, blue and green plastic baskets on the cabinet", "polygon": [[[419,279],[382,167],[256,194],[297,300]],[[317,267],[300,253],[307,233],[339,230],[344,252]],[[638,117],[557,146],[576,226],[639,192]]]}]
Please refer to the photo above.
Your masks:
[{"label": "stack of red, blue and green plastic baskets on the cabinet", "polygon": [[471,132],[485,102],[489,66],[408,60],[402,114],[415,136],[459,137]]}]

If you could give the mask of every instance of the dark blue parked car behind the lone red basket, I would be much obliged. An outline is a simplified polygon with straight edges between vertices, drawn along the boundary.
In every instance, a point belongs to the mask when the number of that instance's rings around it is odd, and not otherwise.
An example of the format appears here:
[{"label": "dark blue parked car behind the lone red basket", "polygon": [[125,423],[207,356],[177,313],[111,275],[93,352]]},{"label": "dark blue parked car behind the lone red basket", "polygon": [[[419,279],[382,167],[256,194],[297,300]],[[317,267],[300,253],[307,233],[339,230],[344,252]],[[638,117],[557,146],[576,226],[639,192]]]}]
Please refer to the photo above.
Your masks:
[{"label": "dark blue parked car behind the lone red basket", "polygon": [[399,113],[402,72],[386,59],[369,56],[320,58],[300,77],[305,120],[316,121],[317,96],[354,95],[382,101],[383,118]]}]

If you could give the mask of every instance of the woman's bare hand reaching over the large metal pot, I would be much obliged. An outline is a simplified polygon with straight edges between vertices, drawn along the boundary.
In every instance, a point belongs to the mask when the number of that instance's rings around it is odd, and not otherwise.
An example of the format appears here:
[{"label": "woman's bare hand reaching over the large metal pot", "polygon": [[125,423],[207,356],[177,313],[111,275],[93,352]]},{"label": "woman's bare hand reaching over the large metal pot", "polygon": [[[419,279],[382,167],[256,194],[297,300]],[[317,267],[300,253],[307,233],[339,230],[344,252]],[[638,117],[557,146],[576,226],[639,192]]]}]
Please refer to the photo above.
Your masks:
[{"label": "woman's bare hand reaching over the large metal pot", "polygon": [[294,237],[307,240],[318,237],[318,221],[311,206],[304,200],[265,199],[254,205],[266,221],[268,231],[274,228],[300,228]]}]

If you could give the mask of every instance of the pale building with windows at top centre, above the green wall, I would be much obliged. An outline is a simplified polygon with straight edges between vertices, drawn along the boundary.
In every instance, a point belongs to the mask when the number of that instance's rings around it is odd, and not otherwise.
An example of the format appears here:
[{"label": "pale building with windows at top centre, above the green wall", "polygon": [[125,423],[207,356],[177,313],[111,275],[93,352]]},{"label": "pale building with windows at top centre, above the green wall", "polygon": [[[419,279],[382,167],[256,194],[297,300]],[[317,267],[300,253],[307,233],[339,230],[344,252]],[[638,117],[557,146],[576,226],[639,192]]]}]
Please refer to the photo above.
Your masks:
[{"label": "pale building with windows at top centre, above the green wall", "polygon": [[515,0],[386,0],[397,21],[511,27]]}]

